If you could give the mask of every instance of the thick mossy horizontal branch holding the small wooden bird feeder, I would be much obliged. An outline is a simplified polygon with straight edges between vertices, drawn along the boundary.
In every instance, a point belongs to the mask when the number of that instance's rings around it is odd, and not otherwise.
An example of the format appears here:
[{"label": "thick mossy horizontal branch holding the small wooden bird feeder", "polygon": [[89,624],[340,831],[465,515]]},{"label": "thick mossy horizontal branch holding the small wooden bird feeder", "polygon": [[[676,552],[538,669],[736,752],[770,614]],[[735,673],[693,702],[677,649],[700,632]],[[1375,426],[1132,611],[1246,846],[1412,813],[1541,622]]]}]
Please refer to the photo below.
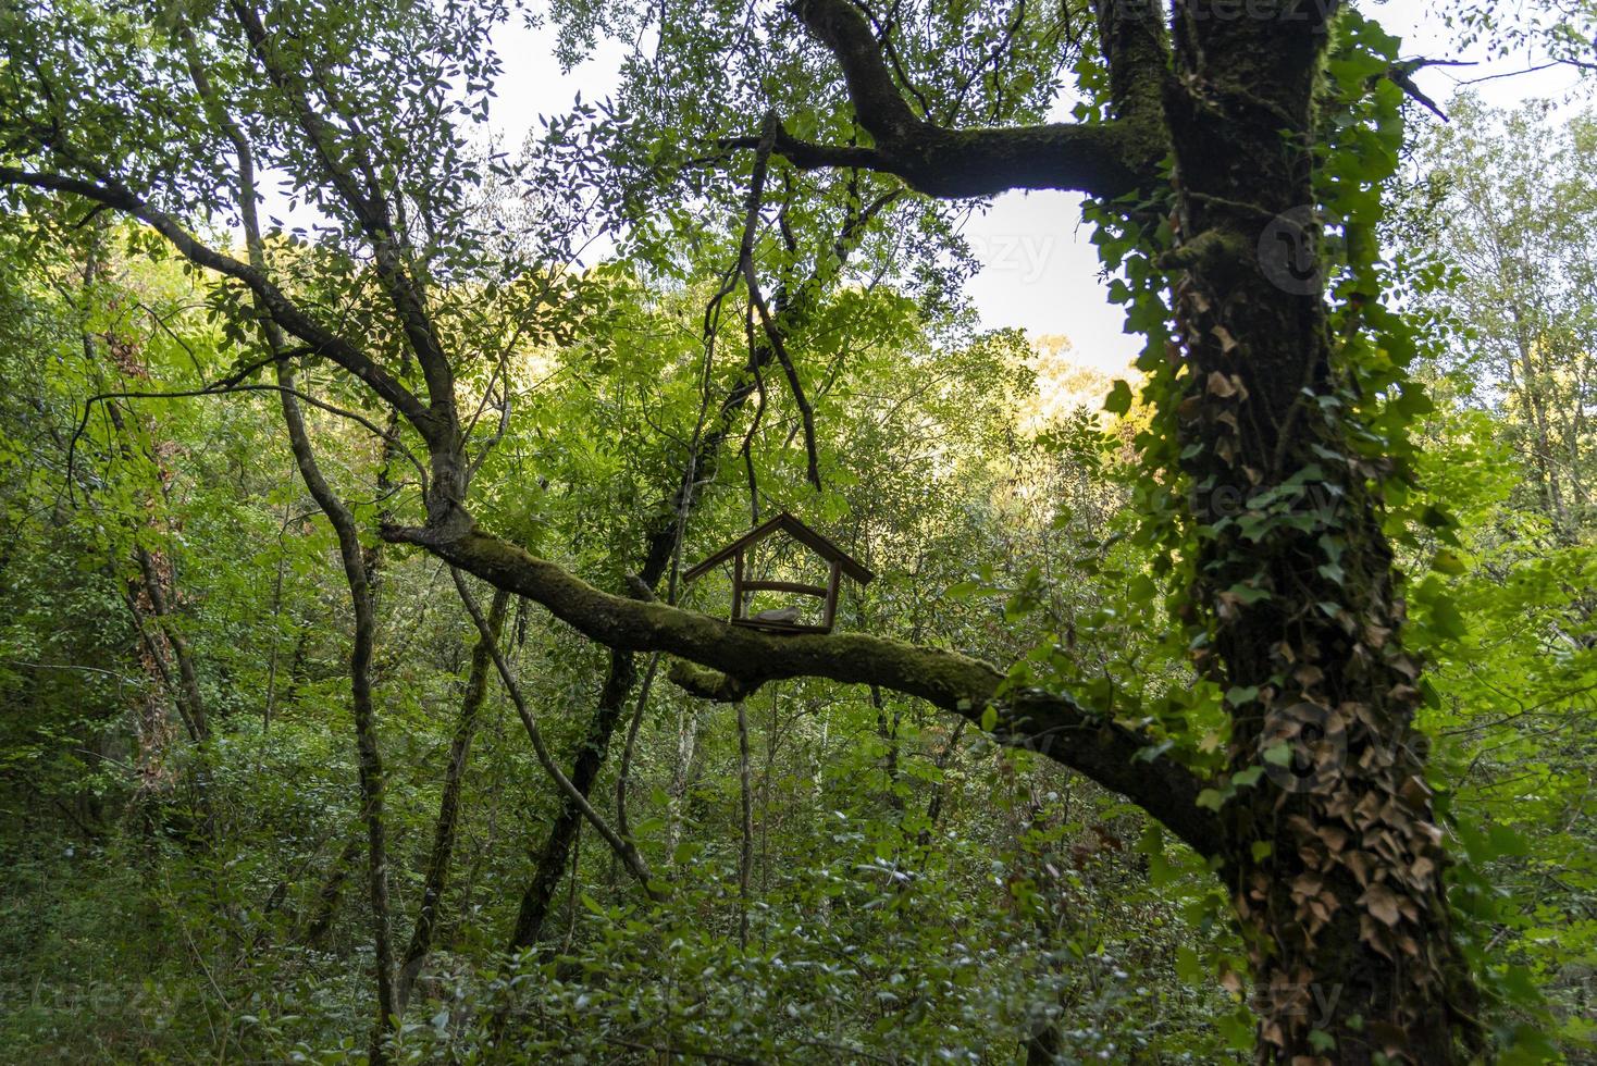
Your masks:
[{"label": "thick mossy horizontal branch holding the small wooden bird feeder", "polygon": [[535,600],[602,645],[663,651],[720,672],[722,678],[706,677],[704,670],[682,673],[701,696],[727,699],[765,681],[816,677],[878,685],[976,724],[990,707],[997,715],[992,732],[1000,742],[1035,750],[1131,798],[1201,854],[1212,854],[1220,839],[1214,815],[1198,806],[1199,779],[1167,756],[1139,758],[1153,742],[1148,736],[1059,693],[1000,696],[1003,673],[981,659],[864,634],[776,637],[664,603],[610,595],[474,525],[465,531],[386,527],[383,536],[422,546],[498,589]]}]

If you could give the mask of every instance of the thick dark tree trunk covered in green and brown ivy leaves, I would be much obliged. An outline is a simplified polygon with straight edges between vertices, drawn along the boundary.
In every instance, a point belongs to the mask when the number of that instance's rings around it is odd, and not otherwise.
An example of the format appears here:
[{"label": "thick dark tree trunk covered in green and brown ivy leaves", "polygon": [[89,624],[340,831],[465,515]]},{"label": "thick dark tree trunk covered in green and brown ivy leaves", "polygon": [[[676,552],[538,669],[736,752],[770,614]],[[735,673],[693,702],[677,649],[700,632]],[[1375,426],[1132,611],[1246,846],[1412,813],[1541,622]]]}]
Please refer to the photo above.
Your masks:
[{"label": "thick dark tree trunk covered in green and brown ivy leaves", "polygon": [[[1187,21],[1180,6],[1166,89],[1182,239],[1172,260],[1187,268],[1175,286],[1183,466],[1199,496],[1193,519],[1207,527],[1190,608],[1211,619],[1196,627],[1209,637],[1195,645],[1199,669],[1242,694],[1230,769],[1268,771],[1220,811],[1258,1060],[1456,1063],[1474,996],[1412,729],[1418,665],[1397,637],[1380,471],[1349,445],[1353,386],[1313,276],[1318,227],[1305,206],[1316,203],[1326,27],[1289,3]],[[1341,501],[1311,528],[1276,522],[1255,543],[1234,511],[1225,520],[1228,499],[1278,487],[1302,498],[1305,482]],[[1262,760],[1282,744],[1292,766]]]}]

